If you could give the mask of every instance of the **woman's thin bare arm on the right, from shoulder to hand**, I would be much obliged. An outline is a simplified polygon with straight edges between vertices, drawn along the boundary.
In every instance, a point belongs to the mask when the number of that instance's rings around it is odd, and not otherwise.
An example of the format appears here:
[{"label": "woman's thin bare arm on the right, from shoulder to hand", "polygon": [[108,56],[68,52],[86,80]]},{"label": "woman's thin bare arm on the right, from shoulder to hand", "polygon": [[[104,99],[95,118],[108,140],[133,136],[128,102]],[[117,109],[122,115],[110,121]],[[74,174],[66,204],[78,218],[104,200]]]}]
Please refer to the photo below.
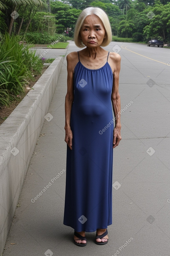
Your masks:
[{"label": "woman's thin bare arm on the right, from shoulder to hand", "polygon": [[120,130],[120,94],[119,94],[119,73],[120,73],[120,61],[121,57],[118,53],[113,53],[112,55],[114,59],[114,74],[113,74],[113,88],[112,88],[112,106],[115,117],[115,127],[113,130],[113,149],[119,145],[120,140],[122,139]]}]

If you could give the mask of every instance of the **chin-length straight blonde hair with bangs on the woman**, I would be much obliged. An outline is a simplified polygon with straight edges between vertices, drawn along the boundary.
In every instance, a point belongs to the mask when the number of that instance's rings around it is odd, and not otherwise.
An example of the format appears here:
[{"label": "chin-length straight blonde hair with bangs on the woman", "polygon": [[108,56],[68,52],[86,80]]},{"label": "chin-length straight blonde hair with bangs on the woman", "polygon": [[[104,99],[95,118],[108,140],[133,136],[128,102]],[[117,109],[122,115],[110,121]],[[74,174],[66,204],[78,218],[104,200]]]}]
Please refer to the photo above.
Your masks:
[{"label": "chin-length straight blonde hair with bangs on the woman", "polygon": [[79,48],[84,47],[84,44],[83,44],[83,42],[80,38],[80,29],[82,27],[82,24],[83,24],[85,18],[88,15],[92,15],[92,14],[95,14],[100,18],[100,20],[102,21],[103,26],[105,28],[105,31],[106,31],[106,38],[103,39],[103,43],[101,44],[101,46],[107,46],[112,41],[111,25],[110,25],[108,16],[105,13],[105,11],[103,9],[99,8],[99,7],[88,7],[80,13],[80,15],[78,17],[78,20],[75,24],[74,43]]}]

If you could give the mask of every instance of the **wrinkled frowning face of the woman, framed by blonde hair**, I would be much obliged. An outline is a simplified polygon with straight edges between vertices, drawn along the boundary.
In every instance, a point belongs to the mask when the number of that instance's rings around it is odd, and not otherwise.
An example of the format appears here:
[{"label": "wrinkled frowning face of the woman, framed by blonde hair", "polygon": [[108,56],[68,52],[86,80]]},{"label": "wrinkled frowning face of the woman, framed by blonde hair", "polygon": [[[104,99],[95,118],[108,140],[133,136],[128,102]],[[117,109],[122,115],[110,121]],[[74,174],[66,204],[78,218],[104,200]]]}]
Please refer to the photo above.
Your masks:
[{"label": "wrinkled frowning face of the woman, framed by blonde hair", "polygon": [[100,46],[106,38],[106,31],[100,18],[95,15],[88,15],[80,29],[80,38],[84,45],[90,48]]}]

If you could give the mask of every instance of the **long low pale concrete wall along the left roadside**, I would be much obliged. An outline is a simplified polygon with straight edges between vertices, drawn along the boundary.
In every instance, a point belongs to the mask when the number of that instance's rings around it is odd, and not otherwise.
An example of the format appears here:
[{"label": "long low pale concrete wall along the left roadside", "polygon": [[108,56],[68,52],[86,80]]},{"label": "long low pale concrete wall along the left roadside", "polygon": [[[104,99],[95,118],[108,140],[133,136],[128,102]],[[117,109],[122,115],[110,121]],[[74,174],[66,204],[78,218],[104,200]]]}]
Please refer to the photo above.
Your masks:
[{"label": "long low pale concrete wall along the left roadside", "polygon": [[0,255],[17,206],[27,168],[54,94],[63,57],[51,63],[0,126]]}]

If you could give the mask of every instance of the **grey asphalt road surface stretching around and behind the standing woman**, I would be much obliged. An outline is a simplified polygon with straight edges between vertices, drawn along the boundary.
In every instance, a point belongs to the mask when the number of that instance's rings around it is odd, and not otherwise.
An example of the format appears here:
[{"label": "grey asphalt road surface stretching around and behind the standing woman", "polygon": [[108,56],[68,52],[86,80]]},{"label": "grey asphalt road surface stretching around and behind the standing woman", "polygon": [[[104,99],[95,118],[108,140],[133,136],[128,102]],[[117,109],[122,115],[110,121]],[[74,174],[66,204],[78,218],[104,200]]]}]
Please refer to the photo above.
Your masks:
[{"label": "grey asphalt road surface stretching around and behind the standing woman", "polygon": [[[170,255],[170,49],[120,42],[105,49],[122,57],[122,141],[114,149],[109,242],[98,246],[95,233],[87,233],[88,244],[80,248],[73,229],[63,225],[65,59],[49,108],[53,119],[44,122],[46,136],[35,147],[3,256]],[[71,42],[66,54],[77,50]],[[52,58],[56,52],[50,51]]]}]

